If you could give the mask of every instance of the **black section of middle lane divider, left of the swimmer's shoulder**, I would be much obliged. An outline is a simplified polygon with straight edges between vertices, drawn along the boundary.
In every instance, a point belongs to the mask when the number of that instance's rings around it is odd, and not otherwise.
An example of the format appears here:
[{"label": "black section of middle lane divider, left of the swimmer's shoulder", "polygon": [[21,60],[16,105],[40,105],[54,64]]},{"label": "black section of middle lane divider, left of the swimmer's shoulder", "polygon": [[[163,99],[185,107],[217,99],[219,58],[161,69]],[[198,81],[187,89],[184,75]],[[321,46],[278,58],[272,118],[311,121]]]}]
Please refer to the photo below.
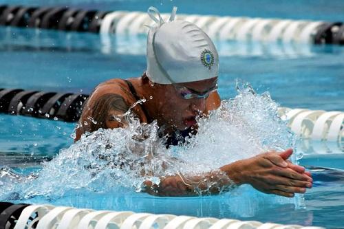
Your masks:
[{"label": "black section of middle lane divider, left of the swimmer's shoulder", "polygon": [[0,89],[0,113],[76,122],[89,95]]}]

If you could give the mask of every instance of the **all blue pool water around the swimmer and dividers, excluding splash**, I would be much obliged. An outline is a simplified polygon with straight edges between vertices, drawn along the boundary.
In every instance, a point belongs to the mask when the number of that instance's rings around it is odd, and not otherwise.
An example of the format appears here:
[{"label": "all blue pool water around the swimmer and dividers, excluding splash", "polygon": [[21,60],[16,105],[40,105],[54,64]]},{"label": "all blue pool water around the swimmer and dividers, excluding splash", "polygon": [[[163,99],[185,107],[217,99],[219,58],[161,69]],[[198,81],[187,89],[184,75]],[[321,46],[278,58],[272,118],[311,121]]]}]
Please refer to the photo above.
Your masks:
[{"label": "all blue pool water around the swimmer and dividers, excluding splash", "polygon": [[[27,1],[25,4],[56,6],[66,2]],[[191,7],[191,1],[143,1],[140,4],[138,1],[105,0],[68,2],[72,6],[106,10],[145,11],[152,5],[162,8],[162,12],[169,12],[171,6],[176,5],[180,12],[189,14],[330,21],[343,20],[344,10],[343,1],[303,0],[293,4],[290,1],[277,3],[267,0],[264,0],[266,4],[261,1],[259,4],[255,1],[203,1],[195,8]],[[1,88],[89,94],[104,80],[140,76],[146,67],[144,37],[131,39],[19,28],[0,28],[0,35]],[[259,93],[269,91],[272,99],[283,107],[344,111],[344,47],[235,41],[215,41],[215,45],[220,56],[219,94],[223,99],[235,96],[235,79],[240,78],[249,82]],[[60,149],[67,148],[73,142],[70,135],[74,124],[71,123],[0,114],[0,127],[0,166],[8,166],[19,174],[40,170],[41,162],[51,160]],[[120,187],[105,193],[80,188],[69,190],[62,197],[36,196],[25,201],[80,208],[344,227],[343,145],[338,142],[305,144],[303,141],[299,142],[297,149],[303,153],[300,164],[308,166],[314,176],[314,188],[304,195],[303,206],[283,201],[275,203],[276,199],[272,196],[258,193],[249,186],[219,196],[183,198],[152,197]]]}]

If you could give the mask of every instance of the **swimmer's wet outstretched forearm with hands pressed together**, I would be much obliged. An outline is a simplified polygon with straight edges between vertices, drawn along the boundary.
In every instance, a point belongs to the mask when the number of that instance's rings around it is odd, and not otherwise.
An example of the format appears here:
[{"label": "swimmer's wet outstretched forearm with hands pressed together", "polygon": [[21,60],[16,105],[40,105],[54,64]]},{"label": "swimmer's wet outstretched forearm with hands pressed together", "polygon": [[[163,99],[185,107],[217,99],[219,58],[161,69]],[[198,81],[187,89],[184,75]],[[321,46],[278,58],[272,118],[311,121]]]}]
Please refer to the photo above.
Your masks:
[{"label": "swimmer's wet outstretched forearm with hands pressed together", "polygon": [[147,181],[144,191],[159,196],[213,195],[250,184],[263,193],[293,197],[294,193],[305,193],[305,188],[311,188],[312,178],[302,166],[287,161],[291,154],[291,149],[282,153],[268,152],[199,176],[163,177],[160,184]]}]

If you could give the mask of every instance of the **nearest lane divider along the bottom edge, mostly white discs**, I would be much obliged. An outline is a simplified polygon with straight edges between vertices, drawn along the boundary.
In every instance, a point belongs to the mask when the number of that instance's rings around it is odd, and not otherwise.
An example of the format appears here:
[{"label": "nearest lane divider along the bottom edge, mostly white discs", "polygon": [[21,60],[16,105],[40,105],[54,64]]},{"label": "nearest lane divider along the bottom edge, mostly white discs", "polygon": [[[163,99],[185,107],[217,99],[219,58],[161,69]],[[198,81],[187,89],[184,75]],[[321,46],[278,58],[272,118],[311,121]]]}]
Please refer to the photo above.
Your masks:
[{"label": "nearest lane divider along the bottom edge, mostly white discs", "polygon": [[48,204],[0,202],[0,229],[322,229],[237,219],[197,218],[151,213],[78,209]]}]

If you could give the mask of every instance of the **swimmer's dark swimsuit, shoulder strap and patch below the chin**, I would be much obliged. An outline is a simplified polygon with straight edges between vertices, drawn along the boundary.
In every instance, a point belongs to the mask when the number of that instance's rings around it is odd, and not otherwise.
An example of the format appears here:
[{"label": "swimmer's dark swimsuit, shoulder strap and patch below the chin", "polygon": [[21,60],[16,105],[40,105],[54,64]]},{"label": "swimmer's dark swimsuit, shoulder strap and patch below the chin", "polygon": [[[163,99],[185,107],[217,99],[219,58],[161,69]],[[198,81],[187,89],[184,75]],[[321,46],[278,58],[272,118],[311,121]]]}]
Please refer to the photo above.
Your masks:
[{"label": "swimmer's dark swimsuit, shoulder strap and patch below the chin", "polygon": [[[131,94],[133,94],[134,98],[138,101],[141,98],[138,96],[138,94],[136,93],[135,88],[133,87],[133,84],[129,81],[129,80],[125,80],[125,83],[127,83],[129,90],[131,92]],[[142,108],[142,111],[144,113],[144,115],[147,117],[147,122],[151,123],[153,122],[153,120],[149,117],[148,113],[147,113],[147,109],[141,104],[140,105]],[[193,130],[191,130],[191,128],[186,129],[184,131],[175,131],[173,132],[173,134],[168,135],[166,138],[166,148],[169,148],[169,146],[176,146],[180,143],[184,143],[185,142],[185,138],[190,136],[190,133],[192,133]],[[164,133],[163,131],[160,131],[159,134],[160,138],[164,137]]]}]

